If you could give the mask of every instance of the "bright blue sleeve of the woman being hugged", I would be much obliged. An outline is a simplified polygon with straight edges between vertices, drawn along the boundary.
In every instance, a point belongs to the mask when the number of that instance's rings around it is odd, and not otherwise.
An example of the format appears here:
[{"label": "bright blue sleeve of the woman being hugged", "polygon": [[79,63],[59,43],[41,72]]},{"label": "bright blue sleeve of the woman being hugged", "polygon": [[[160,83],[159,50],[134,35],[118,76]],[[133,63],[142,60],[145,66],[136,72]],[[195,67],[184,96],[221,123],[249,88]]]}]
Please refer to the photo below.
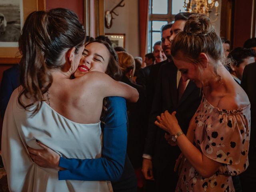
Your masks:
[{"label": "bright blue sleeve of the woman being hugged", "polygon": [[127,147],[126,100],[109,97],[104,131],[102,157],[97,159],[60,158],[59,180],[110,180],[122,175]]}]

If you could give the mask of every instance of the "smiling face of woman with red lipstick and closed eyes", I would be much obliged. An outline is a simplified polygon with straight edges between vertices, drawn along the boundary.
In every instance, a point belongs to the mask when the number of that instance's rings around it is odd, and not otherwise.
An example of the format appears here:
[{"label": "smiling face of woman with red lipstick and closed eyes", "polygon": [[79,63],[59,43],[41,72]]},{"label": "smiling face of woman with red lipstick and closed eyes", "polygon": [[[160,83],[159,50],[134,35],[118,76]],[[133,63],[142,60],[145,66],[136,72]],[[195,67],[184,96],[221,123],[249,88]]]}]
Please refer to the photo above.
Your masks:
[{"label": "smiling face of woman with red lipstick and closed eyes", "polygon": [[110,54],[104,44],[93,42],[84,48],[80,64],[74,73],[75,78],[84,75],[86,72],[98,71],[105,73],[110,60]]}]

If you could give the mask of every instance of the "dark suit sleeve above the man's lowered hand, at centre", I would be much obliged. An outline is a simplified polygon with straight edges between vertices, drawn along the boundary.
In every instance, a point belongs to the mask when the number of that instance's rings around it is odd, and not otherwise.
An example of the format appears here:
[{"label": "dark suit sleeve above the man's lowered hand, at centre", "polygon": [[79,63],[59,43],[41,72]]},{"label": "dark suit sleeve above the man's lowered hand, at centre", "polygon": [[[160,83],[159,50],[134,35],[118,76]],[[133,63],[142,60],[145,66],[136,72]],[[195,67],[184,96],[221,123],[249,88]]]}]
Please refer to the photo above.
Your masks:
[{"label": "dark suit sleeve above the man's lowered hand, at centre", "polygon": [[161,107],[162,107],[162,87],[161,87],[161,77],[162,77],[162,70],[160,68],[157,76],[156,81],[156,87],[155,87],[155,94],[154,99],[152,103],[152,109],[150,112],[149,120],[148,120],[148,133],[146,136],[146,142],[145,142],[145,148],[144,148],[144,154],[150,154],[153,155],[154,145],[156,142],[156,130],[157,127],[155,125],[156,116],[158,116],[161,113]]}]

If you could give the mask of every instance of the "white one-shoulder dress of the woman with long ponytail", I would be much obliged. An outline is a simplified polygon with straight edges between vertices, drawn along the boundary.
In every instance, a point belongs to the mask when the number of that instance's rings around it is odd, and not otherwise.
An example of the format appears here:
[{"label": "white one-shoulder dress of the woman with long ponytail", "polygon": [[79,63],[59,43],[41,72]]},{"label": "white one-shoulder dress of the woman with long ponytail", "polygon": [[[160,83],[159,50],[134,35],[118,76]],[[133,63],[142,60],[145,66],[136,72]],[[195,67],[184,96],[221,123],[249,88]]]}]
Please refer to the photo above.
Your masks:
[{"label": "white one-shoulder dress of the woman with long ponytail", "polygon": [[[58,170],[41,168],[29,156],[27,147],[40,149],[36,140],[65,158],[99,158],[102,150],[100,122],[79,124],[68,120],[42,102],[31,116],[17,101],[14,90],[4,116],[2,158],[10,191],[109,192],[109,181],[58,180]],[[22,98],[24,102],[26,99]]]}]

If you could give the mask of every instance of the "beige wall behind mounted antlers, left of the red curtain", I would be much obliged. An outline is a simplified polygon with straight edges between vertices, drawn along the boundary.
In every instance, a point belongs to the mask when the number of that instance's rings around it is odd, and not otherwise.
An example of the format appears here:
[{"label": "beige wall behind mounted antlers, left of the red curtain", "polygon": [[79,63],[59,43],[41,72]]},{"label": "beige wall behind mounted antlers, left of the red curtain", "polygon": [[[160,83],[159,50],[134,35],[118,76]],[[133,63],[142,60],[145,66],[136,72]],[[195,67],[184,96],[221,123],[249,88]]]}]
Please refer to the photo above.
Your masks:
[{"label": "beige wall behind mounted antlers, left of the red curtain", "polygon": [[[106,10],[112,10],[120,0],[105,0],[104,6]],[[112,21],[110,29],[105,27],[105,33],[122,33],[125,34],[125,49],[132,56],[139,56],[139,15],[138,0],[124,0],[124,7],[118,7],[115,12],[119,16]]]}]

